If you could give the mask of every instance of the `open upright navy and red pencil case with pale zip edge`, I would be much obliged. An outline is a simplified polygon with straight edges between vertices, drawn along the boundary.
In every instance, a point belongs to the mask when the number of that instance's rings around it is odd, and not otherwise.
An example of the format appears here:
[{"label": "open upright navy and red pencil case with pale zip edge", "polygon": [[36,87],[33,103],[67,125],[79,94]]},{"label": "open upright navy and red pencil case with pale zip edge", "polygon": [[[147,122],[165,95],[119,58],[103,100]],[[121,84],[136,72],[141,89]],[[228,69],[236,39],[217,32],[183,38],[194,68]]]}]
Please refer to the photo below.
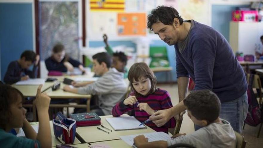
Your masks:
[{"label": "open upright navy and red pencil case with pale zip edge", "polygon": [[74,143],[76,127],[76,120],[66,118],[62,112],[58,112],[56,118],[53,119],[54,135],[62,144]]}]

